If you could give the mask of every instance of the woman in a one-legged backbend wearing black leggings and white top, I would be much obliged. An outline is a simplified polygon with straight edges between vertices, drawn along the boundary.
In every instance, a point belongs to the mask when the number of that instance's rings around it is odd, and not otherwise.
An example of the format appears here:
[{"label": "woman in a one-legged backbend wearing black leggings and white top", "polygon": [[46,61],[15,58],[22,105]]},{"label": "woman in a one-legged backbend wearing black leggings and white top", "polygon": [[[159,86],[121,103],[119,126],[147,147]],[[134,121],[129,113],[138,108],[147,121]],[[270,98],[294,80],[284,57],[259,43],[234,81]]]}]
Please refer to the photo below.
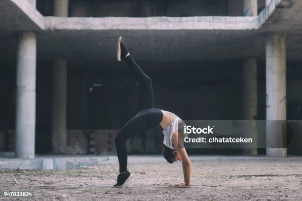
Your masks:
[{"label": "woman in a one-legged backbend wearing black leggings and white top", "polygon": [[[119,174],[117,182],[113,187],[123,187],[131,178],[132,174],[127,170],[127,149],[126,141],[134,134],[151,129],[156,125],[163,128],[163,156],[169,163],[182,161],[184,171],[184,182],[174,186],[188,188],[190,186],[190,161],[184,146],[179,146],[178,121],[181,120],[172,112],[160,110],[153,107],[152,81],[144,71],[135,63],[124,44],[122,37],[117,42],[117,60],[125,61],[133,75],[141,85],[137,114],[130,119],[116,135],[114,141],[116,146],[117,158],[119,162]],[[182,142],[180,142],[182,143]]]}]

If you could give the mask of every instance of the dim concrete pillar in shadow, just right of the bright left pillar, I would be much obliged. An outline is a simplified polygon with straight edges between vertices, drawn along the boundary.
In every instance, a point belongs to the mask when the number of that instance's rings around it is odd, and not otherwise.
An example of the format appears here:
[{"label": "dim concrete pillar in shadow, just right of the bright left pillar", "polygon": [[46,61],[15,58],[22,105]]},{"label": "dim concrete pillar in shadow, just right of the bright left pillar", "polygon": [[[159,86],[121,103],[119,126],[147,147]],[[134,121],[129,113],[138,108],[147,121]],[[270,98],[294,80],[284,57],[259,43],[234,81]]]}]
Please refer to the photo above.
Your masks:
[{"label": "dim concrete pillar in shadow, just right of the bright left pillar", "polygon": [[67,61],[55,60],[53,67],[52,99],[52,151],[64,153],[66,149]]}]

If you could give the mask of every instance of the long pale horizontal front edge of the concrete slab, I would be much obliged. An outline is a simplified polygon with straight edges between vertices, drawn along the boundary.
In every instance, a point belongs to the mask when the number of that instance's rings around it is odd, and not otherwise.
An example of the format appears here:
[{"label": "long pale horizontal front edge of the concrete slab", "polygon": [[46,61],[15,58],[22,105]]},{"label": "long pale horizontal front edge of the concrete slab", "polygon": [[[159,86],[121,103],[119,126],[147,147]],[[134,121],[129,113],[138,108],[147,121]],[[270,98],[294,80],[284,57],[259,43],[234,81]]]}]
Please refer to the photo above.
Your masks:
[{"label": "long pale horizontal front edge of the concrete slab", "polygon": [[44,17],[45,30],[253,30],[257,17]]}]

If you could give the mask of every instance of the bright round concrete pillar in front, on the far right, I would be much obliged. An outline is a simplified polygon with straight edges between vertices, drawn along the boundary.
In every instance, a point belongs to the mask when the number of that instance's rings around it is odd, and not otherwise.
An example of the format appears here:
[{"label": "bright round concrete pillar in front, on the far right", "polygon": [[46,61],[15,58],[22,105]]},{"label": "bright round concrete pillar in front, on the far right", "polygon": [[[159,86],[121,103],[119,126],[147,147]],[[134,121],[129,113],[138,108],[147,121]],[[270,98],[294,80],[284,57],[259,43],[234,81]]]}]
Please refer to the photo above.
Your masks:
[{"label": "bright round concrete pillar in front, on the far right", "polygon": [[[266,40],[266,119],[286,120],[286,35],[283,32],[269,33]],[[266,139],[279,144],[284,140],[280,129],[268,125]],[[285,157],[286,154],[287,149],[266,149],[267,156]]]}]

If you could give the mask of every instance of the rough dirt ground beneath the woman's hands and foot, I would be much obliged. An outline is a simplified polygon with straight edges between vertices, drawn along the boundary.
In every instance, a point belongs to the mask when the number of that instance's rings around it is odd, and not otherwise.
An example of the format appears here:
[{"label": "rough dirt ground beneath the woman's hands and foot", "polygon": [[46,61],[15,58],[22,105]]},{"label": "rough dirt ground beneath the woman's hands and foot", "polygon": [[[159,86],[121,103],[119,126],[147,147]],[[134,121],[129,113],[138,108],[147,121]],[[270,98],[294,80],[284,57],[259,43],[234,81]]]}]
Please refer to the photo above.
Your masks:
[{"label": "rough dirt ground beneath the woman's hands and foot", "polygon": [[[129,157],[134,174],[124,188],[113,188],[116,163],[67,170],[0,170],[0,201],[123,201],[123,200],[302,200],[302,158],[191,157],[191,186],[183,181],[181,162],[159,156]],[[117,160],[116,160],[117,161]],[[8,198],[6,191],[33,192]]]}]

